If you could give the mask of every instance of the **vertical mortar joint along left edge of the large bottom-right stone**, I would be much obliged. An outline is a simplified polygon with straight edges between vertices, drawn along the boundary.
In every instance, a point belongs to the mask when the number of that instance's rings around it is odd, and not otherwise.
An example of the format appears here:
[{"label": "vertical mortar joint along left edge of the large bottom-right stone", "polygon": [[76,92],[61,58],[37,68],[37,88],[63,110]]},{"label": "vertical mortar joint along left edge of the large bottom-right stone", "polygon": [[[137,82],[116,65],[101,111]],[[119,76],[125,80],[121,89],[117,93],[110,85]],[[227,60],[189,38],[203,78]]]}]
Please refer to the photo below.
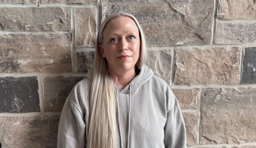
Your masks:
[{"label": "vertical mortar joint along left edge of the large bottom-right stone", "polygon": [[197,143],[200,144],[201,143],[201,130],[202,130],[202,123],[203,123],[203,89],[200,88],[199,90],[199,94],[198,94],[198,107],[199,107],[199,120],[198,120],[198,139],[197,139]]}]

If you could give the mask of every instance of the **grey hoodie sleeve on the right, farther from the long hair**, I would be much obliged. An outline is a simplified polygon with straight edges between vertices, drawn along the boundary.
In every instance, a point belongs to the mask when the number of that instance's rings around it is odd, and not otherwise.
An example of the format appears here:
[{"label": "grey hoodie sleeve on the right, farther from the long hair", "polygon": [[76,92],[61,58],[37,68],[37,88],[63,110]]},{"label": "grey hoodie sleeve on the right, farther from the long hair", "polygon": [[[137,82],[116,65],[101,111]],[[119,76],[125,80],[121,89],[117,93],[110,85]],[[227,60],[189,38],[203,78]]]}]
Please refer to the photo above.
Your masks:
[{"label": "grey hoodie sleeve on the right, farther from the long hair", "polygon": [[[170,90],[171,91],[171,90]],[[167,101],[170,109],[167,110],[167,119],[164,126],[165,148],[186,148],[186,129],[181,109],[172,91]]]}]

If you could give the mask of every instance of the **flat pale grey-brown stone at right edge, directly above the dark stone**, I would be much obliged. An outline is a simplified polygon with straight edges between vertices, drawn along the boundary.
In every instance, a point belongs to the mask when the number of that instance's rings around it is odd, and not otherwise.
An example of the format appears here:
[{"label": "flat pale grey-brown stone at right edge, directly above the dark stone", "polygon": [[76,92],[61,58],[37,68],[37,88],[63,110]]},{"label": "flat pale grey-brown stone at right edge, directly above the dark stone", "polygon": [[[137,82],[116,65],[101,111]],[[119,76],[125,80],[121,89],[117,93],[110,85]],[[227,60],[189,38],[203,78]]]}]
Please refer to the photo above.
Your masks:
[{"label": "flat pale grey-brown stone at right edge, directly above the dark stone", "polygon": [[216,44],[256,43],[254,23],[216,23]]}]

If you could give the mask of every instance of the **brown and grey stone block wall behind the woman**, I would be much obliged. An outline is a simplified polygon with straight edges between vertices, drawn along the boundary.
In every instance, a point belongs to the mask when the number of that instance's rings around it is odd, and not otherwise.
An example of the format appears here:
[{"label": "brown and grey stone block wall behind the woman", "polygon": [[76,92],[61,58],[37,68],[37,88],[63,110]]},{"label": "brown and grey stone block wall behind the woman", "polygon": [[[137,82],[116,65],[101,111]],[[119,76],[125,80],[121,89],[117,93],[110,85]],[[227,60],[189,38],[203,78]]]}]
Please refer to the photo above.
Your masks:
[{"label": "brown and grey stone block wall behind the woman", "polygon": [[190,148],[256,148],[255,0],[1,0],[0,142],[56,147],[62,106],[92,69],[98,27],[126,11],[179,100]]}]

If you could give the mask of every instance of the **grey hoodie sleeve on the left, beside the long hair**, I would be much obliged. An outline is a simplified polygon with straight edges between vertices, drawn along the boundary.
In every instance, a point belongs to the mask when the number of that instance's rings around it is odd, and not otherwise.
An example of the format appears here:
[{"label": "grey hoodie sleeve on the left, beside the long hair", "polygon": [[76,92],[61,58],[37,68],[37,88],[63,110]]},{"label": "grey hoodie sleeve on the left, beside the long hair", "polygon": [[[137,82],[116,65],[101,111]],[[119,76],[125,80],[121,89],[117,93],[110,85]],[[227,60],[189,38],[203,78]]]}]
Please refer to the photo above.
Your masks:
[{"label": "grey hoodie sleeve on the left, beside the long hair", "polygon": [[57,148],[85,148],[85,120],[74,91],[68,96],[61,112]]}]

